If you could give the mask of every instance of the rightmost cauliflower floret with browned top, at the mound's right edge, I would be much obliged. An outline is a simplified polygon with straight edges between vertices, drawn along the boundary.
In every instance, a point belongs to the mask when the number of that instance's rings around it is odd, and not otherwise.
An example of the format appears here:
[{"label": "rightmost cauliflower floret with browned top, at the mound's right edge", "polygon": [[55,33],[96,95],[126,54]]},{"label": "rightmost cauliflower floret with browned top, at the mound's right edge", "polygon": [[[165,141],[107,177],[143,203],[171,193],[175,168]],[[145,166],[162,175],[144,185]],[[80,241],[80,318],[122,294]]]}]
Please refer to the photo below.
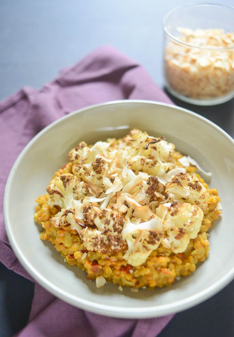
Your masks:
[{"label": "rightmost cauliflower floret with browned top, at the mound's right edge", "polygon": [[199,206],[203,211],[208,207],[209,193],[194,176],[183,173],[174,176],[172,181],[165,186],[165,194],[170,201],[184,200]]}]

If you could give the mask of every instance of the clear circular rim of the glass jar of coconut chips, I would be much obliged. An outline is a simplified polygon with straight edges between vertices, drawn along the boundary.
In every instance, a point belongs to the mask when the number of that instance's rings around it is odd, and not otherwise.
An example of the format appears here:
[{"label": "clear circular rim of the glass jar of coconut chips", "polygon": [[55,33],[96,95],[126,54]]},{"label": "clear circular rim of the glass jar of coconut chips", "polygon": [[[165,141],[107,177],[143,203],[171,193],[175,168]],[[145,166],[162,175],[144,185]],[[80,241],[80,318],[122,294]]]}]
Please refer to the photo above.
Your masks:
[{"label": "clear circular rim of the glass jar of coconut chips", "polygon": [[233,9],[234,10],[234,7],[231,7],[231,6],[227,6],[227,5],[222,5],[222,4],[218,4],[218,3],[213,3],[213,2],[195,2],[195,3],[189,3],[189,4],[185,4],[185,5],[180,5],[180,6],[177,6],[177,7],[174,7],[172,8],[171,10],[169,10],[163,17],[162,19],[162,28],[164,30],[164,33],[169,36],[172,40],[174,40],[175,42],[177,43],[180,43],[180,44],[183,44],[183,45],[186,45],[188,47],[192,47],[192,48],[199,48],[199,49],[203,49],[203,50],[230,50],[230,49],[234,49],[234,43],[229,46],[229,47],[201,47],[201,46],[198,46],[198,45],[195,45],[195,44],[191,44],[191,43],[187,43],[185,41],[182,41],[180,40],[179,38],[177,38],[176,36],[172,35],[168,29],[166,28],[166,21],[167,19],[169,18],[169,16],[182,9],[182,8],[185,8],[185,7],[195,7],[195,6],[216,6],[216,7],[227,7],[227,8],[230,8],[230,9]]}]

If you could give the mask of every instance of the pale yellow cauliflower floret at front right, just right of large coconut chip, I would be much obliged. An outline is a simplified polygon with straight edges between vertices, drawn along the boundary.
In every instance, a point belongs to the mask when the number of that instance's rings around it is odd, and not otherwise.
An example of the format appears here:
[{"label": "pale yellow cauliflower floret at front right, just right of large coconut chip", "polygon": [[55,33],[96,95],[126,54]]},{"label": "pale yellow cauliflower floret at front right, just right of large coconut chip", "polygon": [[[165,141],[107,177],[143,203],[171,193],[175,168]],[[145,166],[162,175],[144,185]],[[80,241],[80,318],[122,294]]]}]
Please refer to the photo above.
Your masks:
[{"label": "pale yellow cauliflower floret at front right, just right of large coconut chip", "polygon": [[175,204],[168,208],[160,205],[156,214],[163,216],[166,229],[162,245],[174,253],[184,252],[190,239],[197,237],[204,215],[200,207],[189,203]]}]

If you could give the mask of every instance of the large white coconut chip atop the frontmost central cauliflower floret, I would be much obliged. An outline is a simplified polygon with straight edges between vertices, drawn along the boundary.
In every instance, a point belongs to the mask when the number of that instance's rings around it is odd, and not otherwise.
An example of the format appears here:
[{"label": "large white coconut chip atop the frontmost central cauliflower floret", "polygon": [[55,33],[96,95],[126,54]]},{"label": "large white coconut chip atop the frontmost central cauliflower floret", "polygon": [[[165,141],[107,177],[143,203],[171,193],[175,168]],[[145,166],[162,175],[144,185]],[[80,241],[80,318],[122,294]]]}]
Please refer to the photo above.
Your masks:
[{"label": "large white coconut chip atop the frontmost central cauliflower floret", "polygon": [[138,225],[130,223],[122,230],[122,237],[123,239],[125,239],[126,236],[130,233],[144,230],[148,230],[151,232],[162,232],[164,230],[162,220],[159,218],[153,218],[149,221],[141,222]]}]

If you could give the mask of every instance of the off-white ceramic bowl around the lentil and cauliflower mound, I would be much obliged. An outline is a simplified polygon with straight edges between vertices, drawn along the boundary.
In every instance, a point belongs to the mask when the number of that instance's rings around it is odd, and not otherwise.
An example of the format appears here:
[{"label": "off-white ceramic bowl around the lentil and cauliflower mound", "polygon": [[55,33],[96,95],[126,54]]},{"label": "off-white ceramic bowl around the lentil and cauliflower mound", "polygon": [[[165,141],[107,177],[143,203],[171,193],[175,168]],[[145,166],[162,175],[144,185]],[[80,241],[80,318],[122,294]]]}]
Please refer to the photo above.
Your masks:
[{"label": "off-white ceramic bowl around the lentil and cauliflower mound", "polygon": [[[223,215],[209,231],[209,257],[195,273],[168,288],[132,293],[95,282],[68,267],[54,247],[41,241],[34,222],[35,198],[45,193],[54,172],[68,161],[78,142],[120,137],[132,129],[166,136],[212,172],[211,187],[222,199]],[[146,318],[178,312],[221,290],[234,277],[234,141],[215,124],[188,110],[151,101],[115,101],[90,106],[50,124],[19,155],[4,195],[4,219],[11,246],[21,264],[49,292],[79,308],[123,318]]]}]

